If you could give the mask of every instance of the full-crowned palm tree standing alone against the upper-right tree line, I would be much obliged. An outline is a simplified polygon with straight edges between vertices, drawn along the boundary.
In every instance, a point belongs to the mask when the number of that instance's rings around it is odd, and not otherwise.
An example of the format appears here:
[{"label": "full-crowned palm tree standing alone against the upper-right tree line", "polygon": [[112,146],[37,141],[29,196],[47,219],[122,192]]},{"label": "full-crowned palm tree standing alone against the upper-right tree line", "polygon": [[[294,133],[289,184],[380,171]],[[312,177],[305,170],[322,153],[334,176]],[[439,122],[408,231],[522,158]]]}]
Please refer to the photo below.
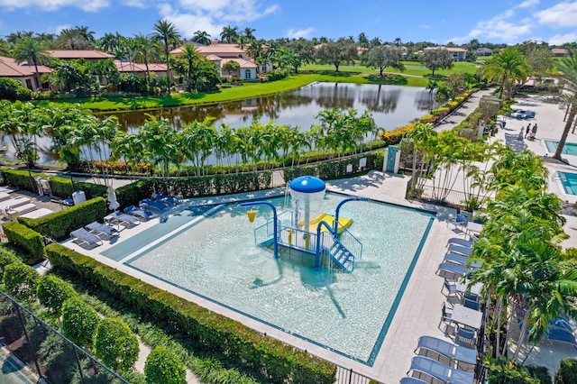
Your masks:
[{"label": "full-crowned palm tree standing alone against the upper-right tree line", "polygon": [[[524,83],[529,74],[529,64],[521,52],[514,48],[502,50],[499,54],[491,57],[481,69],[482,78],[490,81],[500,81],[501,90],[499,98],[503,96],[503,89],[508,80],[513,84]],[[513,87],[509,90],[508,97],[512,94]]]}]

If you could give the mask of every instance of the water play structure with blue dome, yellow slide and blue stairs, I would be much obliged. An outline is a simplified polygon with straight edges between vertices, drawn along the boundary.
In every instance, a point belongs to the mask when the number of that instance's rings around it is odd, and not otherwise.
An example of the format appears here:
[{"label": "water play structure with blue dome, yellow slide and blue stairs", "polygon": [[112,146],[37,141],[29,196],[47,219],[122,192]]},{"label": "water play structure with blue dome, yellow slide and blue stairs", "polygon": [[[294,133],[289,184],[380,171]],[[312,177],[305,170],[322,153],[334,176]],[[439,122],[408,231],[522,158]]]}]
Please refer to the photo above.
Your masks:
[{"label": "water play structure with blue dome, yellow slide and blue stairs", "polygon": [[[272,244],[275,259],[279,258],[280,246],[314,255],[316,270],[325,254],[336,267],[353,272],[355,260],[362,257],[362,242],[347,230],[353,219],[340,217],[339,213],[347,202],[369,199],[345,198],[336,206],[334,215],[328,215],[322,212],[325,190],[325,182],[320,178],[301,176],[289,181],[290,210],[278,214],[276,207],[266,201],[243,203],[242,206],[269,206],[272,209],[272,218],[254,229],[254,241],[260,246]],[[254,209],[247,211],[251,223],[256,214]]]}]

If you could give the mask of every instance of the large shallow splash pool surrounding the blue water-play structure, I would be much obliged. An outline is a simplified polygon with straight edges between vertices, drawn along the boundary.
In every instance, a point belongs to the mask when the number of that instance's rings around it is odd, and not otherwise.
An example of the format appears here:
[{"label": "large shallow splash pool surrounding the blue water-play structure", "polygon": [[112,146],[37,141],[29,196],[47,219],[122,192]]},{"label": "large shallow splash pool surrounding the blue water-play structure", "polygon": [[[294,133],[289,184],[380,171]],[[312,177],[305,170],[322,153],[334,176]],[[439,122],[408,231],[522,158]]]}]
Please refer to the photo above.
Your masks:
[{"label": "large shallow splash pool surrounding the blue water-play structure", "polygon": [[[343,198],[327,194],[325,211],[331,213]],[[282,210],[284,198],[268,201]],[[434,215],[376,202],[353,202],[345,208],[341,215],[353,217],[350,232],[363,243],[362,260],[353,273],[327,265],[315,270],[314,257],[297,251],[280,249],[279,260],[274,260],[270,248],[254,243],[253,233],[270,218],[270,208],[260,207],[255,222],[249,224],[246,208],[237,204],[170,217],[158,226],[172,227],[171,221],[185,222],[187,217],[196,223],[185,224],[177,235],[144,252],[121,243],[103,254],[372,365]],[[149,242],[152,238],[146,232],[142,236]],[[120,246],[122,250],[114,251]]]}]

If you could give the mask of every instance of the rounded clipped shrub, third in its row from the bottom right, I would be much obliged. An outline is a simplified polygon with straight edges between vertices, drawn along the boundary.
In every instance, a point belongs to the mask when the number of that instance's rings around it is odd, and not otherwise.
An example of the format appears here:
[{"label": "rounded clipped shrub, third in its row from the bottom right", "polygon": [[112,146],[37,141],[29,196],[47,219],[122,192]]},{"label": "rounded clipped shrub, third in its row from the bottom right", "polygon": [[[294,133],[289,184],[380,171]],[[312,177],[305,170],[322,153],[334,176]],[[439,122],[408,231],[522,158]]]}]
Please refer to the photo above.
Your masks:
[{"label": "rounded clipped shrub, third in its row from the bottom right", "polygon": [[62,303],[62,332],[72,343],[92,345],[100,316],[80,297],[70,297]]}]

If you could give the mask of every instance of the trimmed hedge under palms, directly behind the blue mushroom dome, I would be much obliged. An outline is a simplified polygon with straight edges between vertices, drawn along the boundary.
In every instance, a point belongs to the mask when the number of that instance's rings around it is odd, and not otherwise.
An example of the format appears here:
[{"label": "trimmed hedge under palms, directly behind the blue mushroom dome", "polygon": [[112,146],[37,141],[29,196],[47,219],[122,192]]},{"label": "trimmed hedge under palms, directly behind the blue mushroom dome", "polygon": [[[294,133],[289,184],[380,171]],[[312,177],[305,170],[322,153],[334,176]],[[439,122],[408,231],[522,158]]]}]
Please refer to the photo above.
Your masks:
[{"label": "trimmed hedge under palms, directly behind the blue mushroom dome", "polygon": [[[311,175],[322,179],[333,179],[350,177],[352,174],[362,171],[359,167],[359,160],[367,159],[367,165],[364,169],[382,169],[384,160],[384,151],[373,151],[371,153],[364,153],[351,158],[338,159],[332,161],[323,161],[311,165],[299,166],[294,168],[283,169],[283,177],[289,181],[299,176]],[[347,172],[348,165],[353,166],[352,172]]]}]

